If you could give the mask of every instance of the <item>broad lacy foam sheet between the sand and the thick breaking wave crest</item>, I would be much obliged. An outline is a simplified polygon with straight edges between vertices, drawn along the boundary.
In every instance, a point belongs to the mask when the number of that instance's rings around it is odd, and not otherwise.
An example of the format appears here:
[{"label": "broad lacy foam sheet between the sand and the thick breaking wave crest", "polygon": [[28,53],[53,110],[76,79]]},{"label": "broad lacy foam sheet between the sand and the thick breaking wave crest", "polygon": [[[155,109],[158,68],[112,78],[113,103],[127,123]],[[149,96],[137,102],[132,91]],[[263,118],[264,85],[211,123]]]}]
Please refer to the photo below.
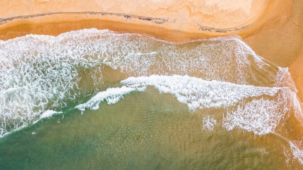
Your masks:
[{"label": "broad lacy foam sheet between the sand and the thick breaking wave crest", "polygon": [[[187,74],[269,87],[278,72],[236,35],[179,44],[94,28],[26,35],[0,41],[0,136],[94,93],[80,81],[91,77],[102,86],[105,65],[132,76]],[[263,80],[258,74],[265,71]]]}]

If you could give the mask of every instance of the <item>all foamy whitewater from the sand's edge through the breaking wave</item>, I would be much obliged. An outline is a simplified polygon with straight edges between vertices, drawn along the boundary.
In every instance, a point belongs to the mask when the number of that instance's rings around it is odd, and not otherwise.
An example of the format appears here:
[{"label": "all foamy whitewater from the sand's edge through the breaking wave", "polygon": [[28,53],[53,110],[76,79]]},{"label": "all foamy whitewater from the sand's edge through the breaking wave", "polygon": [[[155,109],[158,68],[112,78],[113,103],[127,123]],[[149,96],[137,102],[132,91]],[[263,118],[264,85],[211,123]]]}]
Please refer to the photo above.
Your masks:
[{"label": "all foamy whitewater from the sand's edge through the breaking wave", "polygon": [[[105,88],[105,67],[128,78],[119,87],[100,91]],[[288,139],[281,130],[285,120],[290,115],[300,124],[303,120],[287,68],[265,61],[236,35],[174,44],[146,35],[85,29],[0,41],[0,136],[62,113],[69,103],[82,113],[98,110],[105,100],[115,104],[148,86],[171,94],[193,114],[226,110],[221,120],[214,115],[201,120],[201,129],[209,133],[220,125],[228,131],[277,133]],[[77,104],[85,97],[90,99]],[[289,145],[303,164],[301,145]]]}]

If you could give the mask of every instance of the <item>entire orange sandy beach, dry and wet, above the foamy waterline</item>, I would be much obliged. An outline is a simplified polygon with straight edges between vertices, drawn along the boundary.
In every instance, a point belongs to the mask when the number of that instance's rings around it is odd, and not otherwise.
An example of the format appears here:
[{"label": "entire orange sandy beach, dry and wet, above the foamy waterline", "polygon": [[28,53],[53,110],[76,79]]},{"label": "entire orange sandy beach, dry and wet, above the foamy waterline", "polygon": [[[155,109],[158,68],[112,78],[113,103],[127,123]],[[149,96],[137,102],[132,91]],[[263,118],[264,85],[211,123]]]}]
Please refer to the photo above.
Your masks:
[{"label": "entire orange sandy beach, dry and wet, above the foamy waterline", "polygon": [[168,41],[238,34],[256,53],[289,67],[303,101],[301,0],[0,0],[0,39],[84,28]]}]

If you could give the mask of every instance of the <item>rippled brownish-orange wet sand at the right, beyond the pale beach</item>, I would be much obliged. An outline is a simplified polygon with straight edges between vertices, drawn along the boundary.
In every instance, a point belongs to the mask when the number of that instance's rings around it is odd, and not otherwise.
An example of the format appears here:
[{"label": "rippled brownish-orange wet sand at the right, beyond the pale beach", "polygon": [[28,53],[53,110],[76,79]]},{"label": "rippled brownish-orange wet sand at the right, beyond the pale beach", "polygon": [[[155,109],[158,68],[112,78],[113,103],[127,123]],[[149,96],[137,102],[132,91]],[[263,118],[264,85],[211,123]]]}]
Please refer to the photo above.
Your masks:
[{"label": "rippled brownish-orange wet sand at the right, beyond the pale beach", "polygon": [[303,2],[289,1],[290,8],[244,38],[255,52],[279,67],[288,67],[303,101]]}]

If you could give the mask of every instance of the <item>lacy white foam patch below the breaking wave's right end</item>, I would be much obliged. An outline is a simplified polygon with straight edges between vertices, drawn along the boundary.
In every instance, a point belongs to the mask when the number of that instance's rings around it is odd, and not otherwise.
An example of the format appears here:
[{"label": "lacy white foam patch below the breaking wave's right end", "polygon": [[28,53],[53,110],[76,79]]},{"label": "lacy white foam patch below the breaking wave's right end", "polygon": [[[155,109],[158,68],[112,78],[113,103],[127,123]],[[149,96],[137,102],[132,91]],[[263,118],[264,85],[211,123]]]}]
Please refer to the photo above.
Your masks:
[{"label": "lacy white foam patch below the breaking wave's right end", "polygon": [[235,110],[227,113],[222,126],[227,130],[238,127],[257,135],[275,132],[280,119],[289,112],[288,108],[281,107],[282,103],[278,100],[278,97],[274,100],[261,98],[241,103]]}]

